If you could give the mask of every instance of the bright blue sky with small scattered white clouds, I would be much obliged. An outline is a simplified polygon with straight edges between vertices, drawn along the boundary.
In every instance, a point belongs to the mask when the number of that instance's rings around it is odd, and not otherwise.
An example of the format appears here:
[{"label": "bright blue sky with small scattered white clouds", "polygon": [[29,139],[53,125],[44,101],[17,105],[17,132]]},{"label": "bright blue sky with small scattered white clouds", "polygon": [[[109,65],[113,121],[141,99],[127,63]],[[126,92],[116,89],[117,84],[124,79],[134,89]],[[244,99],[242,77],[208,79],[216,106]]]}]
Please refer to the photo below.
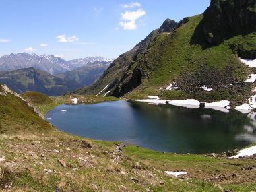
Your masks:
[{"label": "bright blue sky with small scattered white clouds", "polygon": [[170,18],[203,13],[210,0],[1,0],[0,56],[115,59]]}]

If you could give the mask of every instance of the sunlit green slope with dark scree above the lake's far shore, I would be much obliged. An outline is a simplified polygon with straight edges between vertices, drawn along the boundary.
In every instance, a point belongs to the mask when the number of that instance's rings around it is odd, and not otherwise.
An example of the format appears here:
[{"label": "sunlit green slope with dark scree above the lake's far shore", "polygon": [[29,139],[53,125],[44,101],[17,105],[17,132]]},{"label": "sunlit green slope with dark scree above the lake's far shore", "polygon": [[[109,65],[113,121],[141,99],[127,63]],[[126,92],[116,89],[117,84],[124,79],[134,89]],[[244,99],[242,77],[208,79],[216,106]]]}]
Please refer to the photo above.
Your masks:
[{"label": "sunlit green slope with dark scree above the lake's far shore", "polygon": [[[230,44],[243,44],[246,48],[245,44],[249,42],[251,46],[247,48],[255,49],[255,33],[234,36],[218,46],[204,48],[206,42],[201,39],[199,26],[202,18],[203,15],[189,18],[189,22],[171,34],[160,34],[154,39],[146,55],[141,55],[136,63],[136,67],[146,71],[148,77],[126,98],[158,95],[166,99],[230,100],[234,105],[247,101],[254,84],[244,84],[243,81],[249,77],[251,69],[239,61]],[[214,73],[213,77],[207,71]],[[197,82],[200,77],[195,73],[205,76]],[[160,87],[166,88],[174,80],[177,80],[180,90],[160,92]],[[229,84],[234,86],[228,88]],[[214,88],[214,91],[199,90],[203,85]]]}]

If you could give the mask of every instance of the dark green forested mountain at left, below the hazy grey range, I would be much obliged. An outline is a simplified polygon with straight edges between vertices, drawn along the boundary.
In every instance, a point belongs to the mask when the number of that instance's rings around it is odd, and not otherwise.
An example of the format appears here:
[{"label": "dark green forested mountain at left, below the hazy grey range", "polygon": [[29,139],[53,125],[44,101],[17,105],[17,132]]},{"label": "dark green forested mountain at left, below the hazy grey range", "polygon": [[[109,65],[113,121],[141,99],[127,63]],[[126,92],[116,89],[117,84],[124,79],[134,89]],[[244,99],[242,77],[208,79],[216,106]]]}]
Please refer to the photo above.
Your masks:
[{"label": "dark green forested mountain at left, below the hazy grey range", "polygon": [[59,96],[82,87],[74,80],[64,80],[33,67],[0,71],[0,83],[7,84],[18,94],[36,91],[49,96]]}]

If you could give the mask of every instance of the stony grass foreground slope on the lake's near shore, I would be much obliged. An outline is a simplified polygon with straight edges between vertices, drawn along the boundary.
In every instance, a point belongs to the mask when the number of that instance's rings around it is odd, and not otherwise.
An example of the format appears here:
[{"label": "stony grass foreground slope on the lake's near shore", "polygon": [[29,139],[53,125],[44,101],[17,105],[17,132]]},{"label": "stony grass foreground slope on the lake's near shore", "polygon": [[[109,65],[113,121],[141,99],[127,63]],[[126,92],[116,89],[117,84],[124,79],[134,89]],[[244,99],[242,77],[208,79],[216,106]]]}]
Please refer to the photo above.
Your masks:
[{"label": "stony grass foreground slope on the lake's near shore", "polygon": [[[36,92],[23,96],[42,112],[53,103],[53,98]],[[9,191],[96,191],[92,184],[98,191],[253,191],[256,187],[255,159],[158,153],[135,146],[124,147],[123,156],[119,156],[115,152],[117,142],[56,131],[35,117],[22,100],[9,94],[0,97],[0,109],[9,122],[1,124],[0,154],[5,156],[5,161],[0,162],[2,189],[11,183]],[[11,109],[14,107],[15,112]],[[26,117],[18,117],[23,113]],[[30,121],[34,124],[28,129]],[[32,145],[32,141],[40,143]],[[67,167],[58,160],[65,161]],[[253,169],[247,170],[249,166]],[[55,172],[46,173],[44,169]],[[161,170],[185,170],[191,179],[169,177]]]}]

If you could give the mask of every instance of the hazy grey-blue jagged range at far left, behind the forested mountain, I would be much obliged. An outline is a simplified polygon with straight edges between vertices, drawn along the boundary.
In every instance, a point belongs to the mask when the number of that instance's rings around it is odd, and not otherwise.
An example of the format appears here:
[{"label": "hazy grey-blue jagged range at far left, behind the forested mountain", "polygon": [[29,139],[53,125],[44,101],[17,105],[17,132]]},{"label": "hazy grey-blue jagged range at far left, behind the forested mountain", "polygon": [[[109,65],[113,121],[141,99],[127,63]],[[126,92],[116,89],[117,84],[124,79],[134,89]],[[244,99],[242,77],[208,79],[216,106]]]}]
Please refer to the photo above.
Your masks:
[{"label": "hazy grey-blue jagged range at far left, behind the forested mountain", "polygon": [[51,75],[69,71],[69,62],[55,57],[53,55],[36,55],[28,53],[17,53],[3,55],[0,57],[0,70],[22,69],[34,67],[43,71],[47,71]]}]

